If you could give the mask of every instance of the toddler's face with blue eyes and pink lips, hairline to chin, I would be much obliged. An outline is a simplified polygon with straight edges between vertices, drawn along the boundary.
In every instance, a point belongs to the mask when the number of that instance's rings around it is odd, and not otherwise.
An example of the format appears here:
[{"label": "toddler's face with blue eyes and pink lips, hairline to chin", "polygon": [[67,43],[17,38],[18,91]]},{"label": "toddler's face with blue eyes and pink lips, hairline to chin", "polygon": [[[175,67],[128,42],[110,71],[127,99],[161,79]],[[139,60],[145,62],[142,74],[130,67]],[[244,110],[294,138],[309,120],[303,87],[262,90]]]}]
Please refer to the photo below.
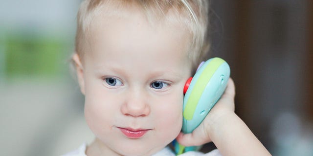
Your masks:
[{"label": "toddler's face with blue eyes and pink lips, hairline to chin", "polygon": [[87,123],[110,156],[151,155],[181,129],[189,35],[140,14],[94,21],[80,82]]}]

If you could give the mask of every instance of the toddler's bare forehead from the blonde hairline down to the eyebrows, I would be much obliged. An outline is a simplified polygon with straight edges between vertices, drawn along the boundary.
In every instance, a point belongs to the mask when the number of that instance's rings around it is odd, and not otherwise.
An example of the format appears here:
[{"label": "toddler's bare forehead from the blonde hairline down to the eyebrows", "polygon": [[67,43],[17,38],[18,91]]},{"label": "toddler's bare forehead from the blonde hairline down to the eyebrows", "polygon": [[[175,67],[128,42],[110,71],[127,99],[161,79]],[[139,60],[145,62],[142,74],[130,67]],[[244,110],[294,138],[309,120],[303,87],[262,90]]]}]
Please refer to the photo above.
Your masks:
[{"label": "toddler's bare forehead from the blonde hairline down to the eyebrows", "polygon": [[[97,16],[90,25],[86,64],[114,66],[126,71],[190,69],[188,42],[190,34],[179,24],[151,25],[144,15]],[[140,63],[138,63],[140,62]]]}]

